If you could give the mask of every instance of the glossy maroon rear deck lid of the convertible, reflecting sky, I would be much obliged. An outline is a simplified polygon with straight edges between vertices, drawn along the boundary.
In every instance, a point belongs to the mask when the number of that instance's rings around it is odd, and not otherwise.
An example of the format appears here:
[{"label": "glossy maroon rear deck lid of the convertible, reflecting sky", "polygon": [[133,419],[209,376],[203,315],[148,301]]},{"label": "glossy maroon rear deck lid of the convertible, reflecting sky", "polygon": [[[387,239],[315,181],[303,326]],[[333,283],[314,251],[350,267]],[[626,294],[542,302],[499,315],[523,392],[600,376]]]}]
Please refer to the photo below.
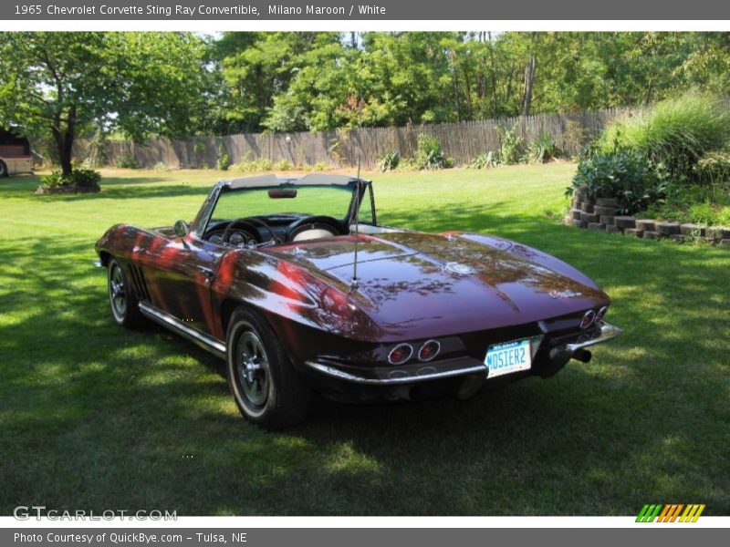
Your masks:
[{"label": "glossy maroon rear deck lid of the convertible, reflecting sky", "polygon": [[[355,274],[355,239],[270,251],[339,287]],[[608,304],[599,289],[527,256],[460,237],[420,232],[360,235],[352,301],[381,327],[426,337],[567,315]]]}]

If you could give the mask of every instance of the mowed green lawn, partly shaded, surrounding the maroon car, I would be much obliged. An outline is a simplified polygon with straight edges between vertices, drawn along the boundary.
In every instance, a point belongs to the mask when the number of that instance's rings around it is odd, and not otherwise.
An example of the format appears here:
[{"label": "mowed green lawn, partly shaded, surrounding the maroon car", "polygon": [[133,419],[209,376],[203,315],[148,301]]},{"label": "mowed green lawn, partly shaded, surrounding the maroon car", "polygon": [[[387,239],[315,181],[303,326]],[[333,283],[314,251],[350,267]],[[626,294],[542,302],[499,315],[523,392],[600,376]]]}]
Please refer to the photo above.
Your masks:
[{"label": "mowed green lawn, partly shaded, surrounding the maroon car", "polygon": [[[489,232],[592,276],[624,335],[588,364],[466,402],[318,401],[267,434],[222,364],[113,324],[93,244],[192,219],[215,171],[104,172],[99,195],[0,181],[0,513],[633,515],[730,512],[730,252],[562,226],[571,164],[370,173],[383,223]],[[478,303],[474,303],[478,305]]]}]

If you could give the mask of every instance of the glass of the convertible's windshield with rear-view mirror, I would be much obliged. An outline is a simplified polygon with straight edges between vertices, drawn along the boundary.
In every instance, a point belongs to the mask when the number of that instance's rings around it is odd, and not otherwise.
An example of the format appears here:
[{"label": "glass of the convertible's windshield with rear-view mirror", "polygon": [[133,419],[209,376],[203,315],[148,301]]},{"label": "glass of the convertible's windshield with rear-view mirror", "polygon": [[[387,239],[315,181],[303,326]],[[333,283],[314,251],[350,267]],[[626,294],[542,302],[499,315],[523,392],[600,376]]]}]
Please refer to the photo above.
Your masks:
[{"label": "glass of the convertible's windshield with rear-view mirror", "polygon": [[279,214],[327,215],[344,219],[352,193],[352,186],[291,184],[224,191],[215,204],[211,222]]}]

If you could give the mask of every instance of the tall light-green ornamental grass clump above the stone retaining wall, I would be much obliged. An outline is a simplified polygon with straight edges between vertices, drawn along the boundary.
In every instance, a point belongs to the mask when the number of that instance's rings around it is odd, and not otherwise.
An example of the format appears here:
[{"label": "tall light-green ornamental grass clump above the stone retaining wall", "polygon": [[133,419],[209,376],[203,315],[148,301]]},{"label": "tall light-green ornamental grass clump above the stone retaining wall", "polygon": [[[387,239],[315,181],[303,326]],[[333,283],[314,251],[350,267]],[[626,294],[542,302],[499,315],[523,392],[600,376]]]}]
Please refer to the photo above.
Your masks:
[{"label": "tall light-green ornamental grass clump above the stone retaining wall", "polygon": [[730,110],[717,98],[690,92],[610,126],[599,146],[603,151],[617,145],[637,150],[684,181],[692,179],[706,152],[724,149],[728,141]]}]

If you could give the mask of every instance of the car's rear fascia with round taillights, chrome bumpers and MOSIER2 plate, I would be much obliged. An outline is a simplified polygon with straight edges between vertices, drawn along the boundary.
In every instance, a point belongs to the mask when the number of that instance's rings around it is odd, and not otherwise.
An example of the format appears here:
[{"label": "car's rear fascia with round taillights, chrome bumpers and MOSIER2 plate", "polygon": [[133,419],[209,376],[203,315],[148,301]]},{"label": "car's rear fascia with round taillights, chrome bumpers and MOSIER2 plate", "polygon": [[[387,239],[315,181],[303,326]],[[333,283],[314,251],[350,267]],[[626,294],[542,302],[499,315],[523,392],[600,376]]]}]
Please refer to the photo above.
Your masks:
[{"label": "car's rear fascia with round taillights, chrome bumpers and MOSIER2 plate", "polygon": [[621,331],[602,318],[581,328],[585,315],[597,312],[394,343],[343,342],[305,365],[315,386],[340,400],[467,398],[524,377],[551,377],[570,359],[588,362],[590,346]]}]

